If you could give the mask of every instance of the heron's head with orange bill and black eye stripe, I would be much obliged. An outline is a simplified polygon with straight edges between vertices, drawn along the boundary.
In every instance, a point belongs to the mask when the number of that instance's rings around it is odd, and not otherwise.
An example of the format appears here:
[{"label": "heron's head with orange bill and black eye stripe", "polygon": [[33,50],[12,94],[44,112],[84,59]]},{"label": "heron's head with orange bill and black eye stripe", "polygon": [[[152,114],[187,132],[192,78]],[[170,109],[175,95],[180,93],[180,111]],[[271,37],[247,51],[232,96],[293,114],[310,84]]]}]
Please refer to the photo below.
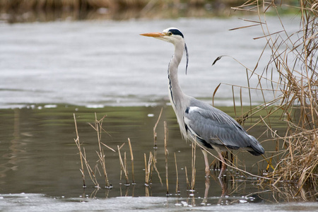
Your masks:
[{"label": "heron's head with orange bill and black eye stripe", "polygon": [[177,28],[167,28],[162,33],[144,33],[140,34],[147,37],[155,37],[159,40],[171,42],[176,45],[179,42],[184,42],[183,34]]}]

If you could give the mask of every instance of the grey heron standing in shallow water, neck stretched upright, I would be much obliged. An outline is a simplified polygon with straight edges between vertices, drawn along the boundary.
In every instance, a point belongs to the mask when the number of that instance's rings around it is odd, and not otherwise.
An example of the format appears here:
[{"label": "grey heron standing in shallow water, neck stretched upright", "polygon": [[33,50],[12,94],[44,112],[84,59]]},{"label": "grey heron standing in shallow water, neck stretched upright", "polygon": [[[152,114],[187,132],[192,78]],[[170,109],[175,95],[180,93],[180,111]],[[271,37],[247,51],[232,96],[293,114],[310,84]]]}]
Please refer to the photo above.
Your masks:
[{"label": "grey heron standing in shallow water, neck stretched upright", "polygon": [[[232,119],[232,117],[216,107],[196,100],[182,92],[177,71],[184,50],[187,55],[187,66],[189,57],[187,45],[180,30],[167,28],[162,33],[145,33],[141,35],[155,37],[175,45],[175,54],[172,55],[167,69],[170,102],[173,110],[175,110],[182,137],[192,142],[198,142],[204,148],[215,149],[218,153],[220,160],[223,162],[219,178],[223,176],[226,167],[222,156],[223,151],[243,148],[252,153],[252,155],[264,154],[264,148],[259,141],[247,134],[247,131],[235,119]],[[204,148],[201,148],[201,150],[204,154],[206,175],[208,175],[210,165],[208,163],[208,153]]]}]

